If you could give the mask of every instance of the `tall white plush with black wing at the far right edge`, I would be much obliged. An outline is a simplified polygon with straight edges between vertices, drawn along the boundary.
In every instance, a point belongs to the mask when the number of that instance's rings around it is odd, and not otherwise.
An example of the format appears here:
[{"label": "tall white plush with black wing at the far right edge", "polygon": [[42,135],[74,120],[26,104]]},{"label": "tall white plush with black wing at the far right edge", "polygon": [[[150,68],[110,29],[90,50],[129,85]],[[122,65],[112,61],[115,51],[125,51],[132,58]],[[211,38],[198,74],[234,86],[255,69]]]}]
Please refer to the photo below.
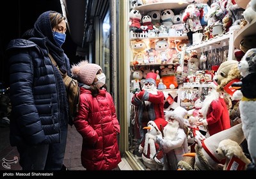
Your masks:
[{"label": "tall white plush with black wing at the far right edge", "polygon": [[242,60],[239,62],[238,69],[243,78],[241,82],[241,90],[234,93],[235,99],[241,99],[239,109],[241,121],[243,123],[244,136],[248,143],[248,151],[252,158],[250,169],[256,170],[256,122],[255,122],[255,105],[256,105],[256,49],[248,50]]}]

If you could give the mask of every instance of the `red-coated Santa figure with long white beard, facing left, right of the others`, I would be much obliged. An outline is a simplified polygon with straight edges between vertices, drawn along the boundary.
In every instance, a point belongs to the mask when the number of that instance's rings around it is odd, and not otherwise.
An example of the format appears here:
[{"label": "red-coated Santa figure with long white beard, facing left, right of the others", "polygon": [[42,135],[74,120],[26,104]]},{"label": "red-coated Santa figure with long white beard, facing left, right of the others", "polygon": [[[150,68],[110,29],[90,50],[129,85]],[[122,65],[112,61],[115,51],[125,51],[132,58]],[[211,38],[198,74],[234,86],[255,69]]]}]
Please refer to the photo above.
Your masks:
[{"label": "red-coated Santa figure with long white beard, facing left, right of the others", "polygon": [[216,91],[217,86],[218,84],[215,81],[209,84],[208,95],[205,97],[201,109],[202,114],[200,114],[200,117],[204,119],[195,123],[198,126],[207,126],[209,136],[230,128],[227,105],[223,95]]}]

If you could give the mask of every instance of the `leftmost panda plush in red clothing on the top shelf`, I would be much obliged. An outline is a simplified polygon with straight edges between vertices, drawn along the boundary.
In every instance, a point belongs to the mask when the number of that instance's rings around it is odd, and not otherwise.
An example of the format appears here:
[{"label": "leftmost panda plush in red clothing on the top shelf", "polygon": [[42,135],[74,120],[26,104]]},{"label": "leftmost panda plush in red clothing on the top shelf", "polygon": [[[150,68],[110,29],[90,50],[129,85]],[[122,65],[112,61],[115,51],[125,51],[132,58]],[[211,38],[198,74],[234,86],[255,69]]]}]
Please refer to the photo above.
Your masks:
[{"label": "leftmost panda plush in red clothing on the top shelf", "polygon": [[130,31],[134,33],[142,33],[141,29],[141,13],[140,10],[131,10],[129,13],[129,22]]}]

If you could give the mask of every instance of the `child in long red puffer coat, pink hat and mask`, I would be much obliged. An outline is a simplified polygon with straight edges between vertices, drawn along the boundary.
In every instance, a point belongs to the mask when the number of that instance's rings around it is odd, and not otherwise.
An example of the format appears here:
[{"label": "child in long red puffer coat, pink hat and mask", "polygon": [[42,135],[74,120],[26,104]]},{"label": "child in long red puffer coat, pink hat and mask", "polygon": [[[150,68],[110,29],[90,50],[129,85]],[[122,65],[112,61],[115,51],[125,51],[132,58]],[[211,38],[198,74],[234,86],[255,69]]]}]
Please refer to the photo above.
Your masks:
[{"label": "child in long red puffer coat, pink hat and mask", "polygon": [[115,104],[106,91],[106,76],[99,65],[81,61],[71,68],[80,87],[79,112],[74,119],[83,137],[81,163],[86,170],[111,170],[121,162],[117,135],[120,125]]}]

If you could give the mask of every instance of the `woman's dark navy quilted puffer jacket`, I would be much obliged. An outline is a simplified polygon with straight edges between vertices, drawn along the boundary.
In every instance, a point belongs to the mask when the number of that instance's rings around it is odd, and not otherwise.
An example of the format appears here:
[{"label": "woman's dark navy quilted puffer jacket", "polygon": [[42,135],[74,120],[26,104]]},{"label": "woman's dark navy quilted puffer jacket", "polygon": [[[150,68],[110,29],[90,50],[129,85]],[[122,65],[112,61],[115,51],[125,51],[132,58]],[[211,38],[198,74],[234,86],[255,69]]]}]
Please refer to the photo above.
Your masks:
[{"label": "woman's dark navy quilted puffer jacket", "polygon": [[12,146],[60,143],[60,118],[67,118],[67,109],[60,109],[58,94],[60,91],[65,94],[65,86],[48,57],[45,39],[16,39],[7,48],[12,54],[9,59]]}]

